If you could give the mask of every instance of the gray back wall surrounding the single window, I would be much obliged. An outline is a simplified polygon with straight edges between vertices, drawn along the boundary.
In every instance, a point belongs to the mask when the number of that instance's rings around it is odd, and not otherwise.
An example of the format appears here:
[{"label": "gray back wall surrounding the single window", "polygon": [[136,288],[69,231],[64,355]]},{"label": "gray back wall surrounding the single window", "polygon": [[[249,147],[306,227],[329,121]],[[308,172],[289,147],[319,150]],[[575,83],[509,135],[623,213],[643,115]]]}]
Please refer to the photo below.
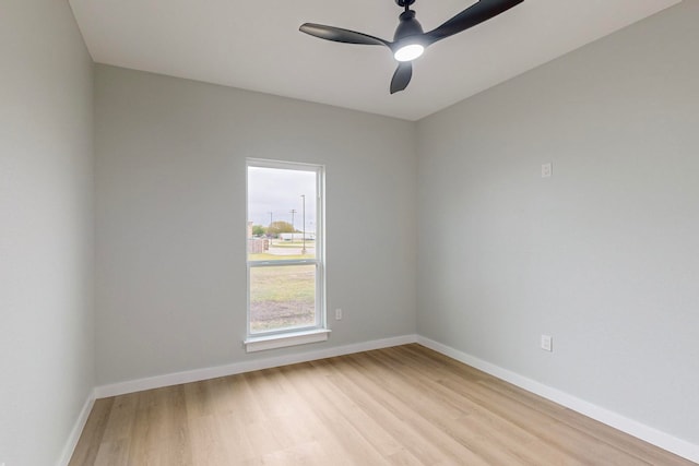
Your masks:
[{"label": "gray back wall surrounding the single window", "polygon": [[95,86],[99,384],[309,349],[241,346],[246,157],[325,165],[344,319],[312,349],[415,332],[415,123],[106,65]]}]

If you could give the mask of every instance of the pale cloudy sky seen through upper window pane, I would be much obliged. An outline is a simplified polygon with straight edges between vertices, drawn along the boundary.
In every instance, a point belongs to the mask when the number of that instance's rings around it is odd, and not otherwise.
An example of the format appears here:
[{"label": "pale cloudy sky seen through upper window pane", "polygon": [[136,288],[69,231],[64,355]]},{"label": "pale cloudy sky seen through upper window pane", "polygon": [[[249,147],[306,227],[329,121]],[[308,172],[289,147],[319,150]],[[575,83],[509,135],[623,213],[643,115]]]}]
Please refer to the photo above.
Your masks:
[{"label": "pale cloudy sky seen through upper window pane", "polygon": [[264,227],[273,222],[292,223],[304,230],[303,211],[306,194],[306,231],[316,231],[316,171],[248,167],[248,222]]}]

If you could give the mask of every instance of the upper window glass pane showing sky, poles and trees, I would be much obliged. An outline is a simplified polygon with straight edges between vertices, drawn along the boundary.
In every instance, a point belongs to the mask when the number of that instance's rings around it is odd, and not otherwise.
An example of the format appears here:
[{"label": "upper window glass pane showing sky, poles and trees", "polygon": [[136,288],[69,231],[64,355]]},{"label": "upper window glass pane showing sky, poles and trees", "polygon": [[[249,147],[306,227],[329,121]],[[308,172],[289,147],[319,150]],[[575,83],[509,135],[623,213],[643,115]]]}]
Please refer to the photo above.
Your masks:
[{"label": "upper window glass pane showing sky, poles and trees", "polygon": [[317,174],[248,167],[248,261],[316,258]]}]

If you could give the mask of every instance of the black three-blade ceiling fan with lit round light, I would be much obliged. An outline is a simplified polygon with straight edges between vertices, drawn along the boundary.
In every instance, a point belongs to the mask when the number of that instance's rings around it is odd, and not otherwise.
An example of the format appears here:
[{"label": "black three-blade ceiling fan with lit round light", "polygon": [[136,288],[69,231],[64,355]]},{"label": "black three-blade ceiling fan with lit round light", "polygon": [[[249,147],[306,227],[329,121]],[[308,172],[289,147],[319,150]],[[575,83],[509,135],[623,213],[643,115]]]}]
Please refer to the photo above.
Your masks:
[{"label": "black three-blade ceiling fan with lit round light", "polygon": [[398,70],[395,70],[393,79],[391,80],[391,94],[394,94],[407,87],[413,76],[412,61],[423,55],[425,48],[438,40],[446,39],[484,21],[490,20],[523,1],[524,0],[478,0],[478,2],[469,7],[437,28],[424,33],[423,26],[420,26],[415,19],[415,11],[410,8],[415,3],[415,0],[395,0],[395,3],[404,8],[405,11],[399,16],[400,23],[395,28],[393,41],[355,31],[313,23],[303,24],[299,31],[310,34],[311,36],[320,37],[321,39],[336,43],[388,47],[393,52],[393,58],[399,62]]}]

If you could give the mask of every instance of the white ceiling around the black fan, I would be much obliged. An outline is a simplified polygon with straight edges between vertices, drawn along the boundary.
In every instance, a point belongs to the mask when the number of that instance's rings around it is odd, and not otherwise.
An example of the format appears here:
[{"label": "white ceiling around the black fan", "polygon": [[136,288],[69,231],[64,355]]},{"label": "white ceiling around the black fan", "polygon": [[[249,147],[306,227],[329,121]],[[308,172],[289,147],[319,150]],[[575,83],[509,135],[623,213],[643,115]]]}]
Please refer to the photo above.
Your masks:
[{"label": "white ceiling around the black fan", "polygon": [[[305,22],[392,39],[394,0],[69,0],[99,63],[418,120],[682,0],[524,0],[430,47],[389,94],[384,47],[299,33]],[[425,31],[474,0],[416,0]]]}]

